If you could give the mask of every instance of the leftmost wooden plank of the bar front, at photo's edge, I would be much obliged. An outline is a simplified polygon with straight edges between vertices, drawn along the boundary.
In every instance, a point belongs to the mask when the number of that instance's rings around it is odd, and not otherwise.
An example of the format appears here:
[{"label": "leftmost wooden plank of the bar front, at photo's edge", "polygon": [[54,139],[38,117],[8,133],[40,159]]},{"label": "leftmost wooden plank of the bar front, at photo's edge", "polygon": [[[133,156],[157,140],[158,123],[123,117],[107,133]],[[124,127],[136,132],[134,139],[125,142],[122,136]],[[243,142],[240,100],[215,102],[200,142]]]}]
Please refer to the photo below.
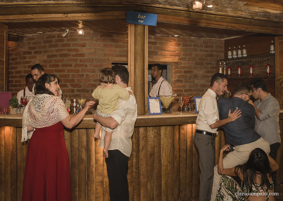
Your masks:
[{"label": "leftmost wooden plank of the bar front, at photo's edge", "polygon": [[[5,200],[5,127],[0,127],[0,200]],[[3,163],[4,161],[4,163]]]}]

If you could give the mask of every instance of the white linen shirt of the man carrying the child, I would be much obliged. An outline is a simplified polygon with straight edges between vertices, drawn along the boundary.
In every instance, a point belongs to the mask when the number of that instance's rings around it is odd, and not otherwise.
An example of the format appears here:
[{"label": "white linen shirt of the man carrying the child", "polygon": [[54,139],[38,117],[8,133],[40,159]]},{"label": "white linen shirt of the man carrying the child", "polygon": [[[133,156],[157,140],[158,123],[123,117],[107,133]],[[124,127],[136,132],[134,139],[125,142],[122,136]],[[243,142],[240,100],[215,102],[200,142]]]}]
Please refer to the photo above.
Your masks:
[{"label": "white linen shirt of the man carrying the child", "polygon": [[[125,88],[131,91],[131,87]],[[108,150],[118,149],[126,156],[130,157],[132,152],[131,137],[134,132],[134,125],[137,118],[137,104],[134,95],[130,95],[128,101],[120,99],[118,109],[111,113],[111,117],[118,122],[117,128],[113,131],[111,144]],[[99,147],[104,147],[105,130],[102,126]]]}]

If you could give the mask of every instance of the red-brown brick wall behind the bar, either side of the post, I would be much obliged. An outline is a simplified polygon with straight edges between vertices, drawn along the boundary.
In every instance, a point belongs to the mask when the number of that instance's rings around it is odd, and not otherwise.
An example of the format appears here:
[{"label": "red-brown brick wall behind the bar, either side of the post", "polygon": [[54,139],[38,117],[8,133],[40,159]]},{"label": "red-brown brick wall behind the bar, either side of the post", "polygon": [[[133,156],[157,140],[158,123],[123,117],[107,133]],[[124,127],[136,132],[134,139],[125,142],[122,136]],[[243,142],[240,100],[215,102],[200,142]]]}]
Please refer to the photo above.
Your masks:
[{"label": "red-brown brick wall behind the bar, either side of the post", "polygon": [[[116,62],[108,61],[108,57],[127,58],[127,34],[69,32],[64,38],[60,34],[27,36],[19,43],[9,42],[8,91],[16,95],[23,89],[30,68],[40,63],[45,73],[59,76],[63,97],[89,100],[99,84],[99,70]],[[161,62],[172,66],[173,93],[203,95],[217,70],[217,59],[224,58],[223,50],[222,40],[149,36],[149,57],[178,57],[178,62]],[[177,102],[176,98],[174,110],[179,111]]]}]

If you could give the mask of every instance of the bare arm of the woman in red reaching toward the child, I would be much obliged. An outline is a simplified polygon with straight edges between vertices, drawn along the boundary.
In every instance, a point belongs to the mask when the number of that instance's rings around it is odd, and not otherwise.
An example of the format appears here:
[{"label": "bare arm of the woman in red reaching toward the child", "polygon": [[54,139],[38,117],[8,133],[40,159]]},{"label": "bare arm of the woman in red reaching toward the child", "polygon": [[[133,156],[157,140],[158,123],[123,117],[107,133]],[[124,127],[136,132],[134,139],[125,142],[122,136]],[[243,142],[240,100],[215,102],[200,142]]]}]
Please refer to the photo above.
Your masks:
[{"label": "bare arm of the woman in red reaching toward the child", "polygon": [[71,117],[68,115],[65,119],[61,120],[62,124],[66,128],[73,128],[75,125],[77,125],[82,119],[83,116],[85,115],[85,112],[88,111],[88,109],[94,105],[94,101],[89,101],[85,104],[85,107],[75,116]]}]

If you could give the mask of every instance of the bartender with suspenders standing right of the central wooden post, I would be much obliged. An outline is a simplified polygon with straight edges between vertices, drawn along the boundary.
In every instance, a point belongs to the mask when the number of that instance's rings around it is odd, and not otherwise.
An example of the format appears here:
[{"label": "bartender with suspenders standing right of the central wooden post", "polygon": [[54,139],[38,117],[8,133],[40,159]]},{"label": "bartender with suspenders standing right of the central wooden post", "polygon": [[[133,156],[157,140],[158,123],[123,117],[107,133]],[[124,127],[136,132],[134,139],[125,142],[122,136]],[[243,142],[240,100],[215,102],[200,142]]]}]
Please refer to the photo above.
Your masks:
[{"label": "bartender with suspenders standing right of the central wooden post", "polygon": [[172,87],[169,82],[161,76],[162,71],[161,64],[154,64],[151,67],[151,75],[156,81],[149,92],[150,97],[156,97],[157,95],[172,95]]}]

